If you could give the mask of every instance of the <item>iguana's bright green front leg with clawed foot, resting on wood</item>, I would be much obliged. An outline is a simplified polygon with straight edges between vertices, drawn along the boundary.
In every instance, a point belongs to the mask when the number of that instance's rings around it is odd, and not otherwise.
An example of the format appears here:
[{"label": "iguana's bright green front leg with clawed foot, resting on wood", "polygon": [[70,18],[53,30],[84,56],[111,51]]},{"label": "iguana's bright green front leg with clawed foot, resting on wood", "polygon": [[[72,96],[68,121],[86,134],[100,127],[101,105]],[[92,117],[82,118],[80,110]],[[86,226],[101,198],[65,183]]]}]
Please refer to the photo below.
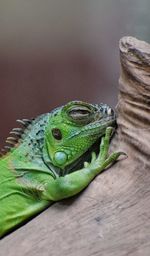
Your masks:
[{"label": "iguana's bright green front leg with clawed foot, resting on wood", "polygon": [[123,152],[114,152],[108,156],[112,129],[111,127],[106,129],[105,137],[101,140],[100,153],[97,157],[94,152],[92,153],[91,163],[85,162],[84,168],[81,170],[51,180],[45,185],[44,199],[58,201],[79,193],[88,186],[95,176],[116,161],[120,155],[124,154]]}]

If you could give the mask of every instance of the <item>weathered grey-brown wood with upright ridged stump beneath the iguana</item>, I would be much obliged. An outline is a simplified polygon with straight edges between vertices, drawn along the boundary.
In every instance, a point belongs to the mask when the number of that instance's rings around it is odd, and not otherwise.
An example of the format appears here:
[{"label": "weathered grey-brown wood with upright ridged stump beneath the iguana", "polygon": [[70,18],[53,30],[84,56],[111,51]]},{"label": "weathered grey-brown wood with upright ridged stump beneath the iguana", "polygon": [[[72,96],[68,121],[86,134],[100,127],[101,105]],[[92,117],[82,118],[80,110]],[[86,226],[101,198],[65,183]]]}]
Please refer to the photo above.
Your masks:
[{"label": "weathered grey-brown wood with upright ridged stump beneath the iguana", "polygon": [[0,242],[0,255],[150,255],[150,45],[120,40],[119,161]]}]

